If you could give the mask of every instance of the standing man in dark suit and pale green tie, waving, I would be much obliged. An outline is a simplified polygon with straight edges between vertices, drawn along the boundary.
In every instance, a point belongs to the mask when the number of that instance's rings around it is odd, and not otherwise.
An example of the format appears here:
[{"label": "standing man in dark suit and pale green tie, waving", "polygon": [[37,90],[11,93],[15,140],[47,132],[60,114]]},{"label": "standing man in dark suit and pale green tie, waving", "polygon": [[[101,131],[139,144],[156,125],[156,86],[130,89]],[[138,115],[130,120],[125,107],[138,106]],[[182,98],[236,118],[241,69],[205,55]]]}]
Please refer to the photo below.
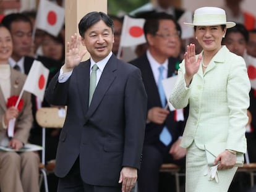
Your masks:
[{"label": "standing man in dark suit and pale green tie, waving", "polygon": [[[58,191],[128,192],[137,180],[145,131],[141,73],[111,51],[114,25],[108,15],[88,13],[79,33],[46,90],[51,104],[67,106],[56,156]],[[91,56],[85,62],[80,43]]]}]

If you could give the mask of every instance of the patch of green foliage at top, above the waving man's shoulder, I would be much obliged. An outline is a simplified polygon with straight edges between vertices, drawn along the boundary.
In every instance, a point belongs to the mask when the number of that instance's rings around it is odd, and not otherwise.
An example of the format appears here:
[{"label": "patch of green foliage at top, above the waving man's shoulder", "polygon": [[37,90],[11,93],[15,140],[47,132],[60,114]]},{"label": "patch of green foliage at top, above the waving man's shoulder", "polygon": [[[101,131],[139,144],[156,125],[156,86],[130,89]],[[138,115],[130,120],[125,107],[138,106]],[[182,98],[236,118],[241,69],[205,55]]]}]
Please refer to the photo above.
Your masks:
[{"label": "patch of green foliage at top, above the waving man's shoulder", "polygon": [[116,15],[119,12],[129,13],[148,2],[150,0],[108,0],[108,14]]}]

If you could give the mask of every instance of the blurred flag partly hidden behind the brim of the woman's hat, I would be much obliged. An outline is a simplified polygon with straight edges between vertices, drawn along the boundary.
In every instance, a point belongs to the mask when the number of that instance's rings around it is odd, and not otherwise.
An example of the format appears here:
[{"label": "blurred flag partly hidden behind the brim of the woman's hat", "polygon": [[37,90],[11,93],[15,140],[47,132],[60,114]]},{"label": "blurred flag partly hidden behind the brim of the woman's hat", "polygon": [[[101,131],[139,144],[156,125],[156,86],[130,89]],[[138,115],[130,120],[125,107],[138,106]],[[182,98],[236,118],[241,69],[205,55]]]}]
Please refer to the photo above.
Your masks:
[{"label": "blurred flag partly hidden behind the brim of the woman's hat", "polygon": [[181,17],[177,21],[179,23],[179,25],[181,26],[182,40],[191,38],[194,36],[194,28],[189,25],[184,24],[184,23],[192,23],[193,22],[192,17],[193,17],[192,12],[186,11],[186,12],[184,12],[184,14],[181,15]]}]

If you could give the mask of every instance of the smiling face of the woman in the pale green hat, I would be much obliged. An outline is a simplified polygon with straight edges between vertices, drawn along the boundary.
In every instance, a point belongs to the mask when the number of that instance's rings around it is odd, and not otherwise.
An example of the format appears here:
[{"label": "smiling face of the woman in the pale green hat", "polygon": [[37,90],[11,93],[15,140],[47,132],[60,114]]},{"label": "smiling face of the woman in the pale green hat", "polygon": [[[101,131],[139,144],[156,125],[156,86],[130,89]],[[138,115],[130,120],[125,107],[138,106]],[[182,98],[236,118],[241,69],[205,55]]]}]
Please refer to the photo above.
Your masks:
[{"label": "smiling face of the woman in the pale green hat", "polygon": [[221,25],[217,26],[197,26],[195,36],[203,51],[218,51],[221,48],[221,41],[226,33],[226,28],[222,30]]}]

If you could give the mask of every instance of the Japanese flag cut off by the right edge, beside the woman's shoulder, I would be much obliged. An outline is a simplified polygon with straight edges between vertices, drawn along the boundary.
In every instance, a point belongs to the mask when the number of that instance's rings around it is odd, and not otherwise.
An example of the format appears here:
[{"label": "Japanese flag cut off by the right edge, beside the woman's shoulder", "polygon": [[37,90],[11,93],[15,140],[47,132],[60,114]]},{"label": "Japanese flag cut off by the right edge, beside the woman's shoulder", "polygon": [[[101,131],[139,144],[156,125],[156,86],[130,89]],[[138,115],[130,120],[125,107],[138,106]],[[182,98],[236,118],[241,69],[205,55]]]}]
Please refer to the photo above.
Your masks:
[{"label": "Japanese flag cut off by the right edge, beside the woman's shoulder", "polygon": [[247,73],[250,79],[250,86],[256,90],[256,58],[244,54],[244,60],[247,65]]}]

